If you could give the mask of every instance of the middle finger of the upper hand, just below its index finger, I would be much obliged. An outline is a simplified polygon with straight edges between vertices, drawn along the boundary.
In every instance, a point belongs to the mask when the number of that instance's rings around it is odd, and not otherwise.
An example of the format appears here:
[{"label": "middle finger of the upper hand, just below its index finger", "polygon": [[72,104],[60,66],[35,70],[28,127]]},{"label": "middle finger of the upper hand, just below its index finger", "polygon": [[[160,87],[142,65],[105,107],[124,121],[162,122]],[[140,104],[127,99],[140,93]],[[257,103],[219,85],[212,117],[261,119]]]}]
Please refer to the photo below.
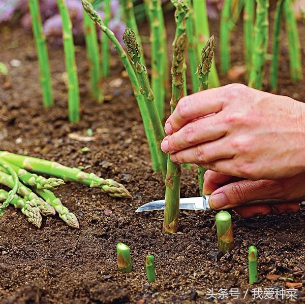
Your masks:
[{"label": "middle finger of the upper hand, just below its index finger", "polygon": [[186,148],[215,141],[226,134],[225,124],[220,114],[210,115],[188,123],[161,143],[161,149],[166,153],[175,153]]}]

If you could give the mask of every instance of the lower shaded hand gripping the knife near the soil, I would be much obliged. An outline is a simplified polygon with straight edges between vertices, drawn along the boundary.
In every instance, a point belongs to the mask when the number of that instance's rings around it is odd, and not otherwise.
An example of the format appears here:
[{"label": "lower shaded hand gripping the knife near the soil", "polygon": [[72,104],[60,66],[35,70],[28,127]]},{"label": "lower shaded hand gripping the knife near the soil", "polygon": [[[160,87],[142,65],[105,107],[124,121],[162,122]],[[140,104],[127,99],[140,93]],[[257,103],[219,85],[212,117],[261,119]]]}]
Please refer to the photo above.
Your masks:
[{"label": "lower shaded hand gripping the knife near the soil", "polygon": [[291,201],[305,197],[305,174],[280,180],[250,181],[206,171],[203,193],[211,194],[209,205],[212,209],[223,209],[228,205],[239,205],[234,210],[242,217],[274,214],[280,215],[299,210],[298,203],[242,206],[258,199],[285,199]]}]

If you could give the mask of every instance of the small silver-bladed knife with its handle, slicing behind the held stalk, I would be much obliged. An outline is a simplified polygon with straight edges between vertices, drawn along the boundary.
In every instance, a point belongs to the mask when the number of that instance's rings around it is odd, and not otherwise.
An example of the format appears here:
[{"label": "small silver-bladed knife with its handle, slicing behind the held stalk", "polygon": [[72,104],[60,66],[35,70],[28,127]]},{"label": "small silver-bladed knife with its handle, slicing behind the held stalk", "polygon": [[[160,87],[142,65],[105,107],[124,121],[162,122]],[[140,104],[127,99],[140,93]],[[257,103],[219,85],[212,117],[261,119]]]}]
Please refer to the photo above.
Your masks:
[{"label": "small silver-bladed knife with its handle, slicing behind the held stalk", "polygon": [[[179,202],[179,209],[181,210],[203,210],[204,212],[207,209],[210,209],[208,204],[210,195],[203,195],[198,197],[186,197],[180,198]],[[305,197],[294,199],[294,200],[284,200],[284,199],[259,199],[247,202],[242,204],[242,206],[253,206],[253,205],[272,205],[272,204],[284,204],[285,202],[301,202],[305,201]],[[226,209],[231,209],[237,206],[241,206],[239,204],[235,205],[228,205]],[[165,199],[159,199],[155,201],[147,202],[146,204],[139,207],[136,212],[143,212],[143,211],[154,211],[154,210],[164,210],[165,209]]]}]

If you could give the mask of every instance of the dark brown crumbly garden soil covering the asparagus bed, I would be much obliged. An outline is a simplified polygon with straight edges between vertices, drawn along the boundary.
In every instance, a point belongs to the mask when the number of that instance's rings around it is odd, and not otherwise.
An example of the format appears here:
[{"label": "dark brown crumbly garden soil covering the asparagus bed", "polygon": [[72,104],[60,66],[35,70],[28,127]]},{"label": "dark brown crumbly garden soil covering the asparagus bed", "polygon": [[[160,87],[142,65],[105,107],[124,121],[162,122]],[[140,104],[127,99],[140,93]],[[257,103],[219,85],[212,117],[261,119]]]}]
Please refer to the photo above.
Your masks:
[{"label": "dark brown crumbly garden soil covering the asparagus bed", "polygon": [[[214,23],[212,32],[219,37],[218,22]],[[174,32],[171,15],[167,25],[170,47]],[[147,26],[141,28],[147,35]],[[300,25],[299,30],[305,63],[305,26]],[[232,65],[241,65],[240,29],[233,32],[233,40],[237,42],[232,43]],[[304,81],[295,85],[290,81],[284,35],[283,41],[278,93],[304,102]],[[145,51],[148,57],[149,50]],[[297,214],[254,219],[241,219],[233,213],[235,249],[217,261],[212,260],[212,251],[217,250],[214,213],[181,212],[179,232],[162,233],[162,212],[135,214],[145,202],[164,197],[164,185],[161,175],[151,170],[140,114],[119,58],[112,56],[111,76],[104,82],[106,100],[98,105],[88,94],[85,49],[77,47],[82,120],[71,125],[63,50],[50,46],[49,53],[56,106],[44,110],[31,33],[0,28],[0,61],[21,61],[19,67],[10,66],[11,85],[4,85],[2,79],[0,86],[1,150],[69,166],[90,166],[88,172],[126,185],[133,199],[113,199],[98,189],[74,183],[62,186],[56,194],[78,217],[78,230],[58,216],[44,218],[37,229],[21,212],[8,208],[0,219],[1,303],[203,303],[211,287],[215,291],[239,288],[239,300],[229,296],[232,302],[259,302],[252,300],[250,291],[243,299],[248,288],[288,288],[289,282],[303,283],[298,302],[305,302],[304,208]],[[222,78],[222,84],[229,82]],[[95,141],[70,139],[70,133],[86,136],[89,128]],[[85,146],[90,151],[82,153]],[[196,168],[184,169],[181,196],[198,195]],[[131,247],[134,270],[130,274],[116,269],[118,242]],[[247,250],[251,244],[259,250],[261,277],[254,286],[247,283]],[[147,283],[145,275],[148,253],[156,257],[158,278],[153,284]],[[265,277],[268,274],[279,276],[270,281]],[[268,301],[276,302],[261,300]]]}]

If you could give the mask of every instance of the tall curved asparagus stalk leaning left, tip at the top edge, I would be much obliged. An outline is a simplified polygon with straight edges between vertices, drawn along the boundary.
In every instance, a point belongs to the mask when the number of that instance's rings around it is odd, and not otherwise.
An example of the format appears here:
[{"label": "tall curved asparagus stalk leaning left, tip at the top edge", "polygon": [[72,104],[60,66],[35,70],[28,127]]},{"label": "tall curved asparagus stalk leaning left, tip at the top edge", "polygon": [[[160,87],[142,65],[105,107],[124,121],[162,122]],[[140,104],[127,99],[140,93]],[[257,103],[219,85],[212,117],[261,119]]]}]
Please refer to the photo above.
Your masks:
[{"label": "tall curved asparagus stalk leaning left, tip at the top edge", "polygon": [[115,38],[114,33],[107,26],[105,26],[105,24],[101,20],[101,17],[93,9],[92,5],[87,0],[81,0],[81,2],[82,2],[84,9],[87,11],[88,15],[90,16],[90,18],[99,26],[99,28],[103,32],[106,33],[109,40],[113,43],[115,49],[117,50],[118,55],[120,56],[124,66],[125,66],[126,72],[129,76],[130,82],[132,84],[134,95],[137,99],[138,107],[139,107],[139,110],[140,110],[140,113],[142,116],[144,130],[145,130],[146,138],[147,138],[148,145],[149,145],[151,160],[153,162],[153,168],[154,168],[154,171],[157,172],[160,170],[160,168],[159,168],[159,161],[158,161],[157,150],[156,150],[157,149],[156,142],[154,140],[154,130],[153,130],[153,126],[151,125],[148,114],[147,114],[144,96],[141,93],[140,84],[139,84],[139,81],[135,74],[135,71],[132,68],[132,65],[127,57],[126,52],[121,47],[118,40]]}]

